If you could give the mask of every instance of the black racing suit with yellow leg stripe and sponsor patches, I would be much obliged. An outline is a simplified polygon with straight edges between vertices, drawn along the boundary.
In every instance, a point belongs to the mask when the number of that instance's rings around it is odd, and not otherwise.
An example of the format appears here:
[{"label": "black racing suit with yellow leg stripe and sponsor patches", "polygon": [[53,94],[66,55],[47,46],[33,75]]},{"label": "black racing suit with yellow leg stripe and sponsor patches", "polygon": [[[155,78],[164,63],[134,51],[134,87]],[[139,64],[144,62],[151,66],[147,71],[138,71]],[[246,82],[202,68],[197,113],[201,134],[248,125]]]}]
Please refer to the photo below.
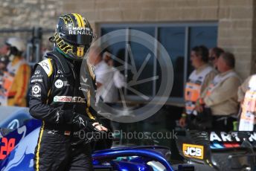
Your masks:
[{"label": "black racing suit with yellow leg stripe and sponsor patches", "polygon": [[[52,56],[51,53],[48,56]],[[83,95],[86,91],[90,96],[93,90],[90,91],[86,83],[82,84],[88,89],[81,88],[81,62],[65,59],[64,63],[69,73],[64,71],[63,63],[48,58],[35,66],[31,77],[30,113],[42,120],[35,149],[35,170],[92,170],[90,145],[77,143],[80,142],[79,130],[74,128],[72,120],[74,114],[79,113],[86,115],[89,122],[96,122],[95,110]],[[90,77],[95,82],[95,76],[90,74]]]}]

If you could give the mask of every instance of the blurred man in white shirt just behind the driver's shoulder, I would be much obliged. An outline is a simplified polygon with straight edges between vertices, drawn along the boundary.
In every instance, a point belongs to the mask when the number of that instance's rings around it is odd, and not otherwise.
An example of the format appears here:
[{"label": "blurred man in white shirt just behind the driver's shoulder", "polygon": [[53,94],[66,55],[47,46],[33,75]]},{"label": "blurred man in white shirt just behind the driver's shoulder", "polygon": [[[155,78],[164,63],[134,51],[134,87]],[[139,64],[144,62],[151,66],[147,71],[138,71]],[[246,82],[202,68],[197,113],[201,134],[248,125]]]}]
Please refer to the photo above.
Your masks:
[{"label": "blurred man in white shirt just behind the driver's shoulder", "polygon": [[96,102],[102,99],[104,103],[114,103],[118,100],[118,89],[113,80],[115,72],[106,64],[100,52],[98,47],[89,50],[89,63],[95,66]]}]

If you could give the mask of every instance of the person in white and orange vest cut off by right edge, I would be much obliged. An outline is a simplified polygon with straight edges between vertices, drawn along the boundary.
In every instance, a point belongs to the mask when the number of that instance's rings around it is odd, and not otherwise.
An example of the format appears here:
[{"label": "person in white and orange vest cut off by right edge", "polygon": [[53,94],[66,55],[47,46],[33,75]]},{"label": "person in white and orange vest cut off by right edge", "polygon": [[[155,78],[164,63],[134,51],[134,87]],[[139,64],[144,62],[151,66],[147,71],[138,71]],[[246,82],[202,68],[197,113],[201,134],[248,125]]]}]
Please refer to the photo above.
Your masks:
[{"label": "person in white and orange vest cut off by right edge", "polygon": [[255,129],[256,112],[256,74],[248,77],[238,88],[237,96],[242,112],[239,131],[253,131]]}]

